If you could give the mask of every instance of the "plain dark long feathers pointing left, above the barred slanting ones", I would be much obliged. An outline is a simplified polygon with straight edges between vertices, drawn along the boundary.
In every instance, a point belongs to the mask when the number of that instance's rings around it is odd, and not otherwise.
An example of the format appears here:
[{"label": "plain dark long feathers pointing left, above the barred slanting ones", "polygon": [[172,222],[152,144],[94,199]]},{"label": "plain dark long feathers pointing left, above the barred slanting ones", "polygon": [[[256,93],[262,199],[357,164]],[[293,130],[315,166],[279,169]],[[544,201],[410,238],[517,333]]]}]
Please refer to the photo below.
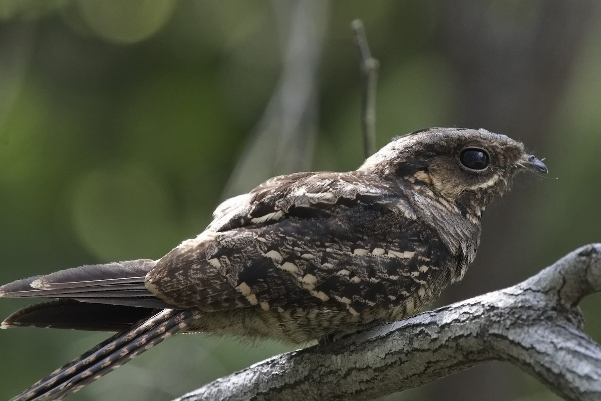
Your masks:
[{"label": "plain dark long feathers pointing left, above the barred slanting ones", "polygon": [[8,316],[0,328],[36,326],[121,331],[159,309],[175,308],[145,288],[154,260],[86,265],[0,286],[0,298],[50,298]]}]

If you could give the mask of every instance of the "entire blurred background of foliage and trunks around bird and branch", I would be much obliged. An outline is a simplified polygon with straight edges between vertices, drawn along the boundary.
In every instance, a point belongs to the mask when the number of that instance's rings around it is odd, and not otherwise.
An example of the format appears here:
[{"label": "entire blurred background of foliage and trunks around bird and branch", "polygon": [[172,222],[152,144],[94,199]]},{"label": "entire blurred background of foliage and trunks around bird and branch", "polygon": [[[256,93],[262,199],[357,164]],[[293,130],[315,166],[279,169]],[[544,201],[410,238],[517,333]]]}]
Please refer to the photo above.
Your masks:
[{"label": "entire blurred background of foliage and trunks around bird and branch", "polygon": [[[157,259],[267,177],[354,170],[359,17],[382,63],[378,145],[484,127],[546,158],[550,179],[523,174],[489,206],[476,262],[439,304],[517,283],[601,239],[597,3],[0,0],[0,282]],[[600,304],[582,303],[597,341]],[[0,399],[107,336],[1,331]],[[70,400],[169,400],[290,349],[177,335]],[[558,398],[499,362],[386,399]]]}]

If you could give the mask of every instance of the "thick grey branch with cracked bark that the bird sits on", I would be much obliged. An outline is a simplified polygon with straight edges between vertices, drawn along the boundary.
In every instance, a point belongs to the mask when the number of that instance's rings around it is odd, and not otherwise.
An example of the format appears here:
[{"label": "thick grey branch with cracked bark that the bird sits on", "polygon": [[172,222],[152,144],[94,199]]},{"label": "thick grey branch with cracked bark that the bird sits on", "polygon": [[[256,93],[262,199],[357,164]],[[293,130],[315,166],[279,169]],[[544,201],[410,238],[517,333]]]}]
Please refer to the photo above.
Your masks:
[{"label": "thick grey branch with cracked bark that the bird sits on", "polygon": [[507,289],[278,355],[178,401],[365,400],[492,360],[509,361],[567,400],[601,399],[601,347],[576,306],[601,290],[601,243]]}]

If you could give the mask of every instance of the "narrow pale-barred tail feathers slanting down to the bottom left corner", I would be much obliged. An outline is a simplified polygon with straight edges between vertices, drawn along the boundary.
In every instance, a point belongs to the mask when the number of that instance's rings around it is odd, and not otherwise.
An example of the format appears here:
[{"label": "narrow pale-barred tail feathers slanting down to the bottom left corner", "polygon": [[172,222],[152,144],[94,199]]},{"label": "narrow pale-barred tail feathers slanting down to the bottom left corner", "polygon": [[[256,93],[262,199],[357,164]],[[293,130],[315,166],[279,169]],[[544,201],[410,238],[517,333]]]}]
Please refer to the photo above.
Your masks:
[{"label": "narrow pale-barred tail feathers slanting down to the bottom left corner", "polygon": [[61,400],[117,369],[200,317],[192,310],[164,309],[118,332],[81,357],[56,369],[11,401]]}]

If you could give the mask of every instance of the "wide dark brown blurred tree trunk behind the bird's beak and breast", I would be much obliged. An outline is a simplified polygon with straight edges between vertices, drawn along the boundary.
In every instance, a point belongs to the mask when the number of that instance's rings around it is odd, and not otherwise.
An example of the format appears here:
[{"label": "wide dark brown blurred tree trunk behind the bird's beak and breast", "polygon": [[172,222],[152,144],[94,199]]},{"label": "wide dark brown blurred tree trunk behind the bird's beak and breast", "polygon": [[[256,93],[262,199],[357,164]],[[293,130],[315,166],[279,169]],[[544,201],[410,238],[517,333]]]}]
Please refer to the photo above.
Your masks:
[{"label": "wide dark brown blurred tree trunk behind the bird's beak and breast", "polygon": [[[526,146],[537,146],[537,155],[544,156],[549,145],[542,138],[549,138],[546,132],[581,43],[593,22],[599,22],[599,3],[460,0],[440,4],[440,43],[456,69],[461,90],[457,102],[463,116],[457,125],[506,133]],[[553,164],[549,167],[553,176]],[[517,263],[516,255],[540,254],[540,249],[522,251],[528,243],[522,239],[530,234],[528,211],[543,200],[528,197],[525,185],[519,186],[511,202],[498,202],[492,206],[495,213],[485,216],[478,258],[463,283],[452,286],[443,302],[499,289],[525,277],[516,268],[526,263]],[[511,266],[516,268],[508,270]],[[432,399],[511,400],[518,395],[517,374],[508,364],[478,367],[437,382]]]}]

